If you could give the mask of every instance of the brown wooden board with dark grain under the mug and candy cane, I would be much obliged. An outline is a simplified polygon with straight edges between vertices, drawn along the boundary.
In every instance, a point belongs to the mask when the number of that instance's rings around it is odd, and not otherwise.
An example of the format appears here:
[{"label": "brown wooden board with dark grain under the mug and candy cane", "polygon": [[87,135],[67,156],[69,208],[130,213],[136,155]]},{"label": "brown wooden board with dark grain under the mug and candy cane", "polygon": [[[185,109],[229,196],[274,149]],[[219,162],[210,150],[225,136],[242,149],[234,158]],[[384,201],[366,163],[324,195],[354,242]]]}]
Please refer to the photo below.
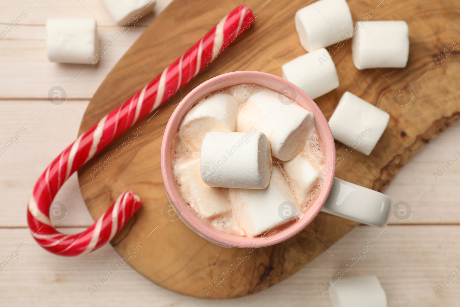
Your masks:
[{"label": "brown wooden board with dark grain under the mug and candy cane", "polygon": [[[144,253],[130,261],[131,266],[154,283],[185,295],[229,298],[264,290],[297,272],[357,225],[319,214],[298,235],[275,246],[254,249],[244,259],[244,249],[224,249],[205,242],[180,220],[168,220],[163,214],[168,200],[160,171],[161,139],[181,97],[201,82],[230,71],[259,70],[281,75],[282,64],[305,53],[294,28],[294,14],[308,3],[264,2],[243,1],[255,12],[253,26],[158,113],[135,124],[79,171],[80,184],[84,186],[81,192],[94,219],[122,191],[131,189],[143,199],[138,213],[111,243],[120,255],[126,255],[137,242],[143,243]],[[348,3],[355,22],[368,17],[405,20],[409,26],[406,68],[357,70],[351,58],[351,41],[345,41],[343,46],[329,49],[340,87],[315,99],[326,118],[331,116],[345,91],[388,110],[390,122],[370,156],[347,152],[345,145],[336,142],[337,156],[341,157],[336,176],[384,191],[415,153],[460,116],[458,52],[446,52],[442,58],[438,54],[446,45],[459,41],[452,29],[460,23],[455,18],[460,3],[454,0],[443,4],[435,0],[385,0],[385,6],[377,6],[371,0]],[[161,73],[211,29],[215,21],[240,4],[234,0],[174,0],[107,75],[91,99],[80,133]],[[437,13],[433,14],[431,9]],[[449,25],[442,17],[449,20]],[[400,87],[405,87],[404,92],[399,91]],[[402,93],[405,96],[400,98],[406,100],[396,99],[396,103],[394,93]],[[405,101],[410,103],[401,105]],[[136,130],[142,132],[137,138],[128,139]],[[113,162],[102,172],[96,172],[98,163],[107,161],[109,156]],[[225,281],[215,283],[224,271],[228,273]]]}]

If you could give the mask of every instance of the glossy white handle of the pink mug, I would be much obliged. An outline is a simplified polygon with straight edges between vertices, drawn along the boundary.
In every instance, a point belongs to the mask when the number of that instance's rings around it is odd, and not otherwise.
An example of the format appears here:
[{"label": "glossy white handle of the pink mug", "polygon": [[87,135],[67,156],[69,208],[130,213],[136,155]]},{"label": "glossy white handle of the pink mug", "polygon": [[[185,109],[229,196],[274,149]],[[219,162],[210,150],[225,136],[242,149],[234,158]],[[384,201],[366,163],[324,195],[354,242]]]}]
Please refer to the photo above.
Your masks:
[{"label": "glossy white handle of the pink mug", "polygon": [[388,222],[391,199],[383,193],[334,177],[321,211],[383,228]]}]

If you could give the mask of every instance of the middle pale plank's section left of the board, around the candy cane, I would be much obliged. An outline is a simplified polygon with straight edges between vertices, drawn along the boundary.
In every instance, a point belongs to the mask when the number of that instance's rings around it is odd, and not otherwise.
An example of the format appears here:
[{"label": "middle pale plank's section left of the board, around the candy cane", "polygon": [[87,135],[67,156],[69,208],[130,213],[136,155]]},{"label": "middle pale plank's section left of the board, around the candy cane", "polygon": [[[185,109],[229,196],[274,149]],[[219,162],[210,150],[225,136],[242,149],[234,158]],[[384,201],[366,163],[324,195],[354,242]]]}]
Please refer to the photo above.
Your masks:
[{"label": "middle pale plank's section left of the board, around the candy cane", "polygon": [[[26,130],[17,141],[13,139],[17,144],[11,142],[11,148],[0,156],[1,227],[27,226],[26,205],[32,185],[48,164],[75,140],[87,104],[88,101],[66,101],[61,105],[48,100],[0,101],[0,147],[8,145],[21,128]],[[55,199],[68,211],[68,215],[55,225],[88,226],[93,223],[81,192],[75,194],[79,189],[74,174]]]}]

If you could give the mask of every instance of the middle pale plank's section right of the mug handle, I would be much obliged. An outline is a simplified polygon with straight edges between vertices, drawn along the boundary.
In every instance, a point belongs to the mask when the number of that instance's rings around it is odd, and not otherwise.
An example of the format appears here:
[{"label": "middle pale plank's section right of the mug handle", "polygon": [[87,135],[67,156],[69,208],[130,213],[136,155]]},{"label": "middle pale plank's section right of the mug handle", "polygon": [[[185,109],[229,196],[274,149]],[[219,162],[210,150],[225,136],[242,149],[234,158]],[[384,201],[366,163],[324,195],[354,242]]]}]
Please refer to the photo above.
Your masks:
[{"label": "middle pale plank's section right of the mug handle", "polygon": [[[404,166],[385,191],[393,203],[406,202],[412,209],[407,220],[393,214],[390,223],[459,223],[460,122],[455,123]],[[458,151],[458,152],[457,152]],[[450,162],[449,162],[450,161]],[[444,166],[449,163],[451,166]],[[438,170],[441,169],[441,172]],[[435,176],[437,173],[439,176]],[[407,205],[406,205],[407,206]],[[406,216],[407,217],[407,216]]]}]

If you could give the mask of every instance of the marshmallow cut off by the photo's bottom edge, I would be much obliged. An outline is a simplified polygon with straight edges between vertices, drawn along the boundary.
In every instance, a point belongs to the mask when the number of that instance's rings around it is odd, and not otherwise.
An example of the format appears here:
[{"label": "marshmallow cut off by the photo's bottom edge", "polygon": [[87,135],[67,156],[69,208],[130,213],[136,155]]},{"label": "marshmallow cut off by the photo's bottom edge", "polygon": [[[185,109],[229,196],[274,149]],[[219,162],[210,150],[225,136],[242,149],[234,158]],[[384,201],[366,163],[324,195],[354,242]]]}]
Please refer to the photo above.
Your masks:
[{"label": "marshmallow cut off by the photo's bottom edge", "polygon": [[374,275],[340,278],[329,298],[333,307],[387,307],[385,290]]}]

